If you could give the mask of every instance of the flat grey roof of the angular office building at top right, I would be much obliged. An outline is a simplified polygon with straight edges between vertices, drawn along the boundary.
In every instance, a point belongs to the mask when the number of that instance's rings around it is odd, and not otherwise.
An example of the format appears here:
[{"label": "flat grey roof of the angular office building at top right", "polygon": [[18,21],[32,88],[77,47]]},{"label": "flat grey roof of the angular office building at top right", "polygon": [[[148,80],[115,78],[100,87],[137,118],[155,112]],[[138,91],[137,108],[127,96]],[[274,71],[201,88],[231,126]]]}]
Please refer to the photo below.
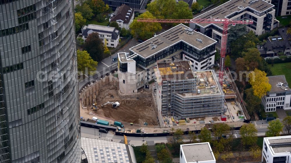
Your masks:
[{"label": "flat grey roof of the angular office building at top right", "polygon": [[[218,6],[217,8],[214,8],[210,11],[205,12],[202,15],[199,15],[198,17],[195,17],[194,19],[225,19],[228,18],[228,15],[231,15],[235,12],[241,12],[245,10],[246,8],[249,8],[251,10],[254,10],[256,12],[264,12],[270,8],[274,7],[271,3],[267,3],[263,0],[252,0],[249,4],[249,0],[230,0],[226,3],[223,3],[222,5]],[[231,19],[231,18],[228,18]],[[199,23],[200,26],[206,27],[210,23]],[[223,28],[223,24],[215,24],[221,29]]]}]

